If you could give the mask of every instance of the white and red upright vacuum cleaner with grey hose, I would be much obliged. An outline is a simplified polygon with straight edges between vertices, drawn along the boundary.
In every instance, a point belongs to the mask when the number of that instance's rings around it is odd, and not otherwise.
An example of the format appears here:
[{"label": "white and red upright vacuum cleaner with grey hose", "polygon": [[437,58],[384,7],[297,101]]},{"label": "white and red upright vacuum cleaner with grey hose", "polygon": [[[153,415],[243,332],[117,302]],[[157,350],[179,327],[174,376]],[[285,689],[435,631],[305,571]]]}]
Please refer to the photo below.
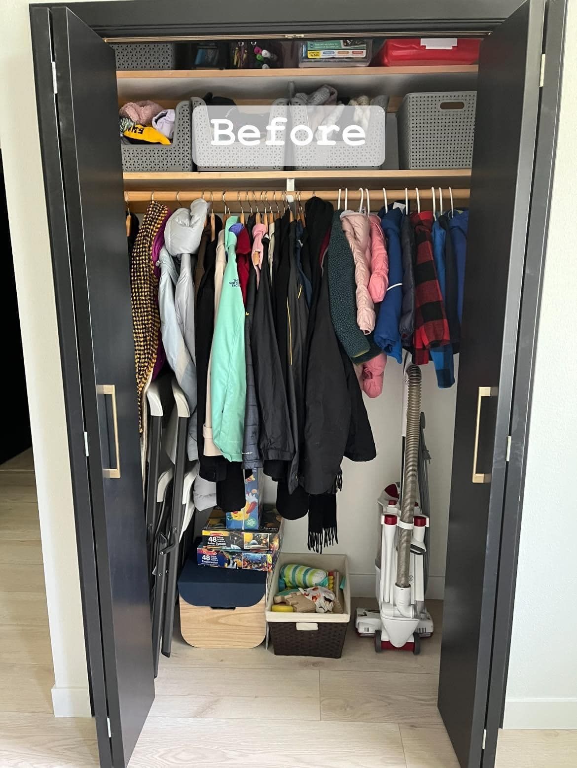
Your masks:
[{"label": "white and red upright vacuum cleaner with grey hose", "polygon": [[[374,637],[377,652],[398,648],[419,654],[421,638],[430,637],[434,628],[425,606],[429,571],[426,465],[430,456],[424,441],[419,366],[406,366],[404,384],[403,477],[400,485],[387,486],[379,499],[380,554],[375,564],[379,611],[357,608],[355,626],[361,636]],[[416,501],[417,482],[420,505]]]}]

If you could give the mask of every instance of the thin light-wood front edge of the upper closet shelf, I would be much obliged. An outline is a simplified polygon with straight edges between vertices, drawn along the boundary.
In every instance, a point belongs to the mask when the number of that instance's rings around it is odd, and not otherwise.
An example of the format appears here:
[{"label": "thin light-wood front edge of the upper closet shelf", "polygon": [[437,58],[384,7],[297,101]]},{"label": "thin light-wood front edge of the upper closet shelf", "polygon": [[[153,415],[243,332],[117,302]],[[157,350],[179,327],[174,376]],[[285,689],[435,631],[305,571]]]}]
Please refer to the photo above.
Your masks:
[{"label": "thin light-wood front edge of the upper closet shelf", "polygon": [[401,74],[466,74],[476,73],[477,65],[429,66],[429,67],[303,67],[287,69],[156,69],[119,70],[118,80],[146,80],[151,78],[186,78],[188,80],[211,78],[349,78],[371,75]]}]

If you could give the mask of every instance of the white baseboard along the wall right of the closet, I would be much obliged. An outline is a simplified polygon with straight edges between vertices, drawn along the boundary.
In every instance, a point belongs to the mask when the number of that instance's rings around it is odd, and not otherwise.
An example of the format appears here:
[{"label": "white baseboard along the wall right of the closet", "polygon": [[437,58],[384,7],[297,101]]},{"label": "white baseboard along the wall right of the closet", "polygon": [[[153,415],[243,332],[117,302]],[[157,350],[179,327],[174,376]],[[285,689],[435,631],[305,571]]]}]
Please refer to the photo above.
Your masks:
[{"label": "white baseboard along the wall right of the closet", "polygon": [[506,699],[505,730],[573,730],[577,699]]}]

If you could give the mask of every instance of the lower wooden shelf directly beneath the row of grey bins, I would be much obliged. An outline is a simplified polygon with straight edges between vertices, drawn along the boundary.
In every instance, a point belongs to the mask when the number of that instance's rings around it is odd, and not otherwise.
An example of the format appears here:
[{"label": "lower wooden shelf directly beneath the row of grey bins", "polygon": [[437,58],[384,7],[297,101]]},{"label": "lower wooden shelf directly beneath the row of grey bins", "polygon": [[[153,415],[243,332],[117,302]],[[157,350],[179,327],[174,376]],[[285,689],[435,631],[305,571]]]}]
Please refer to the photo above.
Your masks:
[{"label": "lower wooden shelf directly beneath the row of grey bins", "polygon": [[295,179],[300,190],[322,190],[323,187],[468,187],[469,169],[443,170],[222,170],[205,173],[124,174],[125,190],[211,190],[259,189],[283,190],[287,179]]}]

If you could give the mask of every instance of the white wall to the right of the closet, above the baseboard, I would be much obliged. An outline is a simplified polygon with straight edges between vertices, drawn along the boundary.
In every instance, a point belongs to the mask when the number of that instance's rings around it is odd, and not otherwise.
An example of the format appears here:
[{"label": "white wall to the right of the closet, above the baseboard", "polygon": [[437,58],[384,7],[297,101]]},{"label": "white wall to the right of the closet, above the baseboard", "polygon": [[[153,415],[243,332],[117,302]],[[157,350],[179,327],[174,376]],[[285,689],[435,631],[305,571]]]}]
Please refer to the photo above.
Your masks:
[{"label": "white wall to the right of the closet, above the baseboard", "polygon": [[569,2],[561,121],[513,616],[506,728],[577,728],[577,258],[569,236],[577,195],[577,6]]}]

